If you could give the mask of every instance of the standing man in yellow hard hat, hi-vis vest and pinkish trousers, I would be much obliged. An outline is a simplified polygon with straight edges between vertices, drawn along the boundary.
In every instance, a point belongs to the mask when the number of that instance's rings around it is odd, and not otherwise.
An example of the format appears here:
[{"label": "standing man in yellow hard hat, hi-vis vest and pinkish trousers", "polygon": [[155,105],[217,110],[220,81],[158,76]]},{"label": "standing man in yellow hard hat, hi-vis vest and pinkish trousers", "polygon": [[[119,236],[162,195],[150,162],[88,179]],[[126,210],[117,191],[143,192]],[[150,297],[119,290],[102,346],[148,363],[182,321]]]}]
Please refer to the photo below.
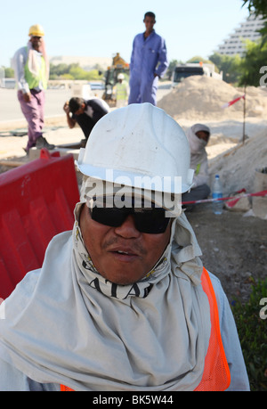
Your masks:
[{"label": "standing man in yellow hard hat, hi-vis vest and pinkish trousers", "polygon": [[46,148],[52,150],[53,144],[43,136],[44,90],[49,78],[49,61],[45,52],[44,29],[35,24],[28,31],[28,45],[20,48],[13,56],[12,68],[18,87],[20,108],[28,122],[28,144],[24,149]]}]

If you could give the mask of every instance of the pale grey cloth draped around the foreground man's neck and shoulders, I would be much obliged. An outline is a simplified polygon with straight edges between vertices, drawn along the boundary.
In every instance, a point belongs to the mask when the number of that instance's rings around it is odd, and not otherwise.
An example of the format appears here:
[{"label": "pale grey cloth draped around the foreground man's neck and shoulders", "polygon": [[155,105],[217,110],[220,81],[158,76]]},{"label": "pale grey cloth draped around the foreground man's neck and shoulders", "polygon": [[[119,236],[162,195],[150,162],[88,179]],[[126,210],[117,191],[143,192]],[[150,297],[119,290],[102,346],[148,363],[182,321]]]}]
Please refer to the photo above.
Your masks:
[{"label": "pale grey cloth draped around the foreground man's neck and shoulders", "polygon": [[72,236],[55,236],[42,269],[1,305],[1,358],[33,380],[75,390],[195,389],[210,322],[201,251],[186,217],[174,219],[150,274],[119,286],[93,266],[78,225],[81,206]]}]

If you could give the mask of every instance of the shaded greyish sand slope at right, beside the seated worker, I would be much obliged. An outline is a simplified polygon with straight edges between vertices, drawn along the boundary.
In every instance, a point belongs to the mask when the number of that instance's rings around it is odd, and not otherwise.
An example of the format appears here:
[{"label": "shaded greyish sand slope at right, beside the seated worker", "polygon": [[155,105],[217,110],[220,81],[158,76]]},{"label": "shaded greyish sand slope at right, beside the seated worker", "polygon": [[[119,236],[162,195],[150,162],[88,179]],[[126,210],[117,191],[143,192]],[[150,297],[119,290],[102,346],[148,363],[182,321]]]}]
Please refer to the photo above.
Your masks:
[{"label": "shaded greyish sand slope at right, beside the seated worker", "polygon": [[229,151],[209,160],[211,181],[219,174],[223,192],[237,192],[245,188],[255,192],[255,169],[267,167],[267,129],[245,143],[238,143]]}]

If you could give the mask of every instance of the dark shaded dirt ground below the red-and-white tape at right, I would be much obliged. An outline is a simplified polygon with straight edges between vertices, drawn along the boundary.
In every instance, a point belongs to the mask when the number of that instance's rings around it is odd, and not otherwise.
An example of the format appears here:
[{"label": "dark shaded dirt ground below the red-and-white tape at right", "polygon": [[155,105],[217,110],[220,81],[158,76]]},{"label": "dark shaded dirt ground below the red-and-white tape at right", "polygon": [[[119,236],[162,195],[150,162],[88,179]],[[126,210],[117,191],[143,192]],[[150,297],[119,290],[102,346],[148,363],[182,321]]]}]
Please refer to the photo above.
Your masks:
[{"label": "dark shaded dirt ground below the red-and-white tape at right", "polygon": [[227,209],[214,215],[210,203],[196,205],[187,217],[203,265],[221,280],[230,302],[246,302],[253,280],[267,276],[267,221]]}]

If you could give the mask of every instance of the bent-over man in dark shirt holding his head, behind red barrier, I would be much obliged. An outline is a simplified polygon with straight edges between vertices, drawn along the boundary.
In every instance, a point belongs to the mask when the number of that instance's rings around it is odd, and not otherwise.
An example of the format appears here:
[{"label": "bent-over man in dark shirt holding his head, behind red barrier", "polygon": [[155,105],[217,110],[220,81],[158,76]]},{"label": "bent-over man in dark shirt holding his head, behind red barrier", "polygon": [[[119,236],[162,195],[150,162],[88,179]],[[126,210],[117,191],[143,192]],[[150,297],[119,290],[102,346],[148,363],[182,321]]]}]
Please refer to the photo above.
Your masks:
[{"label": "bent-over man in dark shirt holding his head, behind red barrier", "polygon": [[109,105],[100,98],[85,101],[84,98],[73,97],[65,102],[63,110],[67,114],[67,122],[72,129],[78,124],[85,135],[83,145],[87,142],[94,125],[109,112]]}]

